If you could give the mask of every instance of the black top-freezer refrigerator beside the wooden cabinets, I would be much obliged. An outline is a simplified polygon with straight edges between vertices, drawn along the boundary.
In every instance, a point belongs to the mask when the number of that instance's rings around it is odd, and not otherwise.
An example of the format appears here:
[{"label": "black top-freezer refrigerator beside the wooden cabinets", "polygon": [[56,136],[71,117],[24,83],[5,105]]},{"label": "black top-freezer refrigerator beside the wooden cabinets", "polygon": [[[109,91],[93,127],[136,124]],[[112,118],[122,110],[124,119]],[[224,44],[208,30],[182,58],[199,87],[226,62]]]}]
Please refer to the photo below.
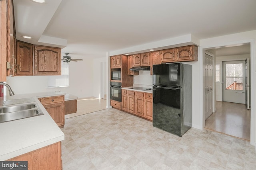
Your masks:
[{"label": "black top-freezer refrigerator beside the wooden cabinets", "polygon": [[192,65],[153,65],[153,126],[182,137],[192,125]]}]

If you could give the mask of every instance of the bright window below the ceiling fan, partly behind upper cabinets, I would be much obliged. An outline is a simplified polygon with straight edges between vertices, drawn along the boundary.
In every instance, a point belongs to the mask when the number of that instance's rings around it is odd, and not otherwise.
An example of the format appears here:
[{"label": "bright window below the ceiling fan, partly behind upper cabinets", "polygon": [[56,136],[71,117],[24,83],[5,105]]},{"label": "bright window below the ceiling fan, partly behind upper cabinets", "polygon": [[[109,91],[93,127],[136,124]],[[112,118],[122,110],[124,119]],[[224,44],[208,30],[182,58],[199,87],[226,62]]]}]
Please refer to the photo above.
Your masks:
[{"label": "bright window below the ceiling fan, partly behind upper cabinets", "polygon": [[69,86],[68,63],[61,63],[61,76],[47,76],[48,88]]}]

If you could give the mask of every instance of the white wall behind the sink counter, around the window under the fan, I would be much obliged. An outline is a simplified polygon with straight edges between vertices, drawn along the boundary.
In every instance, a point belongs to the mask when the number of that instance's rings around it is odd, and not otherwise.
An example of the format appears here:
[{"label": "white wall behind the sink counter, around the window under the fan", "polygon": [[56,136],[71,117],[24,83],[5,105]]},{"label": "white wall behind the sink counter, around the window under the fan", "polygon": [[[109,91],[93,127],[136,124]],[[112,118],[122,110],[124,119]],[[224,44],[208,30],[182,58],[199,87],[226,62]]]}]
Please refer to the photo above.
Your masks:
[{"label": "white wall behind the sink counter, around the window under the fan", "polygon": [[78,98],[93,96],[93,59],[70,62],[70,86],[61,88],[47,88],[47,76],[15,76],[7,77],[15,94],[28,94],[48,91],[62,91],[73,94]]}]

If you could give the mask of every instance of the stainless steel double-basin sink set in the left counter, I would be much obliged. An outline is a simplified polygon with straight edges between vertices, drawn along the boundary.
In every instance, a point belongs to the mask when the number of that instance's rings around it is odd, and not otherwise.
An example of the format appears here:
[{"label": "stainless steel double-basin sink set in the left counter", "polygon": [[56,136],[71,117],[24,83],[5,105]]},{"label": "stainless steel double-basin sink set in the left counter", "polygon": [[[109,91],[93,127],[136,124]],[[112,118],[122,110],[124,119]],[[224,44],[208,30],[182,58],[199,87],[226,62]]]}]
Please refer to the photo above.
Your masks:
[{"label": "stainless steel double-basin sink set in the left counter", "polygon": [[38,115],[44,115],[44,113],[36,103],[22,103],[0,106],[0,123]]}]

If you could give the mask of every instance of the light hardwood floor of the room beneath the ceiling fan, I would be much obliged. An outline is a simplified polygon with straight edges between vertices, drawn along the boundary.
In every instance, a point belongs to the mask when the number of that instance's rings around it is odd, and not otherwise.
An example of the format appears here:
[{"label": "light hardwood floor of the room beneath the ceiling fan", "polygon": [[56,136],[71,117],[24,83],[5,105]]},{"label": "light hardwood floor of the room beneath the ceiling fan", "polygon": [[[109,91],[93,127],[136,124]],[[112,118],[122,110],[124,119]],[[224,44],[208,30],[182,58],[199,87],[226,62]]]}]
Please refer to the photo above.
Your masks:
[{"label": "light hardwood floor of the room beneath the ceiling fan", "polygon": [[106,109],[106,100],[95,97],[80,98],[77,100],[77,111],[76,113],[65,115],[65,119],[92,113]]}]

